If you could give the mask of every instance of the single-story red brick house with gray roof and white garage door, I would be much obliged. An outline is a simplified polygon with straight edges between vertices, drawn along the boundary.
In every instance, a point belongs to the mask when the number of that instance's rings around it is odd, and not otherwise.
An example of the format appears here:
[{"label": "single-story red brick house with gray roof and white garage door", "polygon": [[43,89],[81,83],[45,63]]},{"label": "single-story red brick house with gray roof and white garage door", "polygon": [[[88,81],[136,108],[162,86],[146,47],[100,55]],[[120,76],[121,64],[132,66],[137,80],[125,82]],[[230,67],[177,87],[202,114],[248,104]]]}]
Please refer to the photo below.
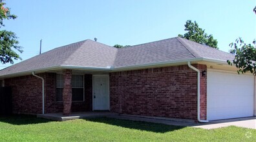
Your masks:
[{"label": "single-story red brick house with gray roof and white garage door", "polygon": [[[255,76],[238,75],[232,54],[174,37],[114,48],[85,40],[0,71],[12,111],[42,114],[108,110],[211,121],[255,112]],[[198,103],[200,102],[200,103]]]}]

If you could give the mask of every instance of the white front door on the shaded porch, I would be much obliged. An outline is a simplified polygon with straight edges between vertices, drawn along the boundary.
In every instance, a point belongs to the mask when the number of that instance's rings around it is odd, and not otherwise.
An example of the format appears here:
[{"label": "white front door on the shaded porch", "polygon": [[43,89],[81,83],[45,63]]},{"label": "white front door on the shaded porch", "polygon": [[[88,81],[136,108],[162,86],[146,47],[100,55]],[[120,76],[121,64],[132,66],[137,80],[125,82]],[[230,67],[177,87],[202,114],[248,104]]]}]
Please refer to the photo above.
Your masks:
[{"label": "white front door on the shaded porch", "polygon": [[109,110],[109,76],[93,76],[93,110]]}]

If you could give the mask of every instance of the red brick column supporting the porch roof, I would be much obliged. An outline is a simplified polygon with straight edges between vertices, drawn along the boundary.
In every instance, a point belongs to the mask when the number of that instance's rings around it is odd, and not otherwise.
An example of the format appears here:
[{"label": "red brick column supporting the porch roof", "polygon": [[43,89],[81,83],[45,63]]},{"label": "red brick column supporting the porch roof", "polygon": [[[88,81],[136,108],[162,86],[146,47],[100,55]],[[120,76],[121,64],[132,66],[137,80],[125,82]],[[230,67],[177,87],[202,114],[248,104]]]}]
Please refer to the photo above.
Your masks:
[{"label": "red brick column supporting the porch roof", "polygon": [[64,70],[63,71],[63,115],[69,116],[71,113],[71,105],[72,105],[72,70]]}]

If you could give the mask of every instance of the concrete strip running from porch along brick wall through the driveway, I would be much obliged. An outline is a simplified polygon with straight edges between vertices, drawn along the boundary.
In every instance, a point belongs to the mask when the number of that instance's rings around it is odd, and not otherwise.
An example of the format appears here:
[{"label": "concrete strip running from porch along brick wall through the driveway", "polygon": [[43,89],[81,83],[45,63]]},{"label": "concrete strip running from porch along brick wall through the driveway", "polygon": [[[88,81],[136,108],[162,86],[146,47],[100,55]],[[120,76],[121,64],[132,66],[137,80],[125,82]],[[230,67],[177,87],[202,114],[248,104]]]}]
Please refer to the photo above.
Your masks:
[{"label": "concrete strip running from porch along brick wall through the driveway", "polygon": [[114,119],[125,119],[131,121],[145,121],[151,123],[162,123],[165,125],[175,125],[182,127],[195,127],[204,129],[213,129],[221,127],[244,127],[256,129],[256,117],[243,117],[237,119],[224,119],[218,121],[209,121],[209,123],[195,123],[191,119],[173,119],[167,117],[149,117],[149,116],[134,116],[120,115],[111,112],[73,112],[70,116],[63,116],[62,113],[56,114],[37,114],[37,117],[52,119],[55,121],[67,121],[71,119],[87,119],[93,117],[110,117]]}]

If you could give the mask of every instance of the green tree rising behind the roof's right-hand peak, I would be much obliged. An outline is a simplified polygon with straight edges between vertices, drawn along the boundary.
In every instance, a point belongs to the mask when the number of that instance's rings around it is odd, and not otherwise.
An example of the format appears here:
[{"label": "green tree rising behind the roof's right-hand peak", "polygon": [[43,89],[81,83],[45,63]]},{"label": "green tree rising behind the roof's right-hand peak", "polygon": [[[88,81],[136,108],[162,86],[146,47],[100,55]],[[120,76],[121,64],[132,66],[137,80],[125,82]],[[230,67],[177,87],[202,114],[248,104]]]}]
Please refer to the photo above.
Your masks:
[{"label": "green tree rising behind the roof's right-hand peak", "polygon": [[208,45],[213,48],[218,48],[217,39],[214,39],[213,35],[208,35],[204,32],[204,30],[202,30],[202,28],[199,28],[197,21],[194,21],[193,23],[191,20],[187,20],[185,24],[185,30],[187,31],[186,34],[179,34],[178,36],[189,39],[191,41],[195,41],[202,45]]}]

